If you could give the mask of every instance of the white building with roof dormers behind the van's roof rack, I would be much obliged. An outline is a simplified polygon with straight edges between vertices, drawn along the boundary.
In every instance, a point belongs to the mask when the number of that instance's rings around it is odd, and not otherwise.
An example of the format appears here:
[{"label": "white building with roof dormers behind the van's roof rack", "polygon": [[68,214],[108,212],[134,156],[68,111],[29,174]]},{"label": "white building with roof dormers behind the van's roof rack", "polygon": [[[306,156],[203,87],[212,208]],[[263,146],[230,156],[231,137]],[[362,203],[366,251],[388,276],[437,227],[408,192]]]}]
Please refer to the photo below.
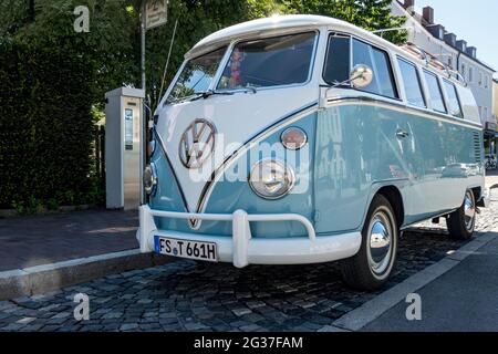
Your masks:
[{"label": "white building with roof dormers behind the van's roof rack", "polygon": [[[492,111],[492,75],[496,70],[477,58],[475,46],[468,45],[465,40],[458,39],[455,33],[448,32],[444,25],[436,23],[433,8],[424,8],[422,14],[414,9],[415,0],[392,2],[392,13],[407,18],[404,27],[408,30],[408,42],[458,71],[473,91],[483,126],[487,131],[496,129]],[[491,132],[487,134],[490,135]]]}]

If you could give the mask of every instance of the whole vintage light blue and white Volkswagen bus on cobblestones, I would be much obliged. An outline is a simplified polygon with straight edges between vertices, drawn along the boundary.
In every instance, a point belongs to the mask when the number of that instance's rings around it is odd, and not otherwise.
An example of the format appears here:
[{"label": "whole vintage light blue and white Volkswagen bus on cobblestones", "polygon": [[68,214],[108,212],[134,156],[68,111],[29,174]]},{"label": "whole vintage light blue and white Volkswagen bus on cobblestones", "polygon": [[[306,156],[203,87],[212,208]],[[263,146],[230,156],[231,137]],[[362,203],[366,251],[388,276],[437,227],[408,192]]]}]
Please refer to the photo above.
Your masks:
[{"label": "whole vintage light blue and white Volkswagen bus on cobblestones", "polygon": [[198,42],[155,115],[142,252],[210,262],[341,261],[373,290],[412,225],[471,237],[483,129],[457,73],[350,23],[282,15]]}]

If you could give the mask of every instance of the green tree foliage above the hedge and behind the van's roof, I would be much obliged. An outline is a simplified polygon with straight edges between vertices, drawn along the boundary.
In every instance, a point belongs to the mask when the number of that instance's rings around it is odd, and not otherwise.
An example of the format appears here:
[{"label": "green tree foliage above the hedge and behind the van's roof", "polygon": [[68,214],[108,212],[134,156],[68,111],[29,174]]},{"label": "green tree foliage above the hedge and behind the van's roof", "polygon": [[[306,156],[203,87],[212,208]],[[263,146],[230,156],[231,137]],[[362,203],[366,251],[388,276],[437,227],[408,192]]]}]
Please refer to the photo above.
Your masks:
[{"label": "green tree foliage above the hedge and behind the van's roof", "polygon": [[[147,94],[153,106],[160,100],[163,72],[173,28],[178,21],[165,83],[172,81],[183,55],[198,40],[225,27],[273,13],[324,14],[367,30],[400,27],[404,19],[390,13],[390,0],[169,0],[168,23],[147,31]],[[90,33],[75,33],[73,10],[90,9]],[[104,93],[129,84],[139,87],[142,0],[3,0],[0,2],[0,38],[29,45],[53,46],[83,55],[94,67],[91,90],[94,104],[103,107]],[[385,38],[403,42],[404,32]]]}]

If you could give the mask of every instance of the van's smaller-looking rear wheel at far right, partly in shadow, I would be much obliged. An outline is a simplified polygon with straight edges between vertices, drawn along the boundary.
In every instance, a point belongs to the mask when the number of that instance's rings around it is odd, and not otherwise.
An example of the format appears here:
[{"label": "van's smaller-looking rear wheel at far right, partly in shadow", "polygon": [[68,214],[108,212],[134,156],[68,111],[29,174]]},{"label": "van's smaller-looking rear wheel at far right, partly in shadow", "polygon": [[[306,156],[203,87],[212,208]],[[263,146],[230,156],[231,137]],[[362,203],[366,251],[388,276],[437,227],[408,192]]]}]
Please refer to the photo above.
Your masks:
[{"label": "van's smaller-looking rear wheel at far right, partly in shadow", "polygon": [[476,227],[476,210],[474,192],[467,189],[461,207],[446,218],[449,236],[453,239],[468,240],[473,237]]}]

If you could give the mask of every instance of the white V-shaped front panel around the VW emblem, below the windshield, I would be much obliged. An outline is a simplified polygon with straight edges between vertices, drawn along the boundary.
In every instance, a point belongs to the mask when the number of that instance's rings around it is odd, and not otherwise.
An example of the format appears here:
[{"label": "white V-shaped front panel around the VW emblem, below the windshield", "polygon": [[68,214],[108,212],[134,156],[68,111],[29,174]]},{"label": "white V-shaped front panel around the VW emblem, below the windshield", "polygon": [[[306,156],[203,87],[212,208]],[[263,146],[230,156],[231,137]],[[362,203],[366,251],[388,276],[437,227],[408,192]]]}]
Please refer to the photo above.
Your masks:
[{"label": "white V-shaped front panel around the VW emblem, below the windshield", "polygon": [[[199,212],[198,200],[209,178],[226,159],[247,140],[281,121],[292,112],[299,112],[317,101],[317,92],[310,84],[295,87],[261,90],[258,93],[235,93],[211,96],[206,100],[168,105],[158,113],[157,133],[172,162],[185,192],[189,211]],[[278,103],[278,104],[274,104]],[[201,170],[183,166],[178,149],[183,133],[196,118],[204,118],[222,133],[216,139],[215,154],[204,163]],[[196,174],[195,176],[193,174]],[[198,175],[197,175],[198,174]]]}]

